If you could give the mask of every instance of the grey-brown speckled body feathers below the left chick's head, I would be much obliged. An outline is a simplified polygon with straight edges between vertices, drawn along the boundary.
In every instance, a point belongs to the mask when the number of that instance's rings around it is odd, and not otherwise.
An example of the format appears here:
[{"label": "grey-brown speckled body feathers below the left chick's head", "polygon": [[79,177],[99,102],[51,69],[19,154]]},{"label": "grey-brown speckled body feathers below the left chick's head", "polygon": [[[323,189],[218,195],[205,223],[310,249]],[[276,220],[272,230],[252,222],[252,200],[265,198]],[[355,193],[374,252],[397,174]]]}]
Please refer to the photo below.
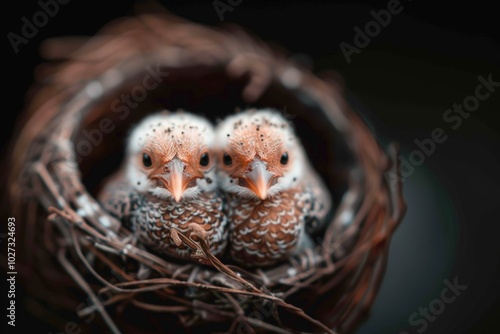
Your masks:
[{"label": "grey-brown speckled body feathers below the left chick's head", "polygon": [[171,229],[189,236],[188,226],[191,223],[200,225],[207,232],[214,255],[221,255],[226,248],[227,217],[217,191],[201,192],[196,199],[176,203],[152,194],[138,193],[118,176],[107,183],[99,200],[110,214],[120,219],[143,244],[157,253],[189,258],[191,250],[184,244],[175,244]]}]

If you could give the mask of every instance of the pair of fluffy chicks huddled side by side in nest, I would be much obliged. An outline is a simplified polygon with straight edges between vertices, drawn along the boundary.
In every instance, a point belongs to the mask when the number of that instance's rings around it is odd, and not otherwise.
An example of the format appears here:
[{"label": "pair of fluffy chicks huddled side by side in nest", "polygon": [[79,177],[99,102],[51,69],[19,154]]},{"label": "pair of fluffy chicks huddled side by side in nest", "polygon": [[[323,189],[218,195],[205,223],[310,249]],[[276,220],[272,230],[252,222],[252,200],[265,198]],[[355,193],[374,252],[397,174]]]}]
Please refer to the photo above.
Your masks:
[{"label": "pair of fluffy chicks huddled side by side in nest", "polygon": [[310,247],[331,208],[291,124],[271,109],[239,112],[217,126],[187,112],[146,117],[99,200],[156,253],[190,259],[172,229],[188,233],[195,223],[212,254],[228,250],[246,267]]}]

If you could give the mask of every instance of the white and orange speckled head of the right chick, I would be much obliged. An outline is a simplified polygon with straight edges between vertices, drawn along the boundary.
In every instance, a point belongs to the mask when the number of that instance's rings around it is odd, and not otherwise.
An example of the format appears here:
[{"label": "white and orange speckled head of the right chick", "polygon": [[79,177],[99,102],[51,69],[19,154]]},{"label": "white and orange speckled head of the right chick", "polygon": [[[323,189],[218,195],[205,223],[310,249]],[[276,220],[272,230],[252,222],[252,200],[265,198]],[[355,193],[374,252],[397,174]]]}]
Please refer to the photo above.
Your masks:
[{"label": "white and orange speckled head of the right chick", "polygon": [[277,111],[249,110],[216,129],[222,189],[265,200],[298,184],[304,153],[290,123]]}]

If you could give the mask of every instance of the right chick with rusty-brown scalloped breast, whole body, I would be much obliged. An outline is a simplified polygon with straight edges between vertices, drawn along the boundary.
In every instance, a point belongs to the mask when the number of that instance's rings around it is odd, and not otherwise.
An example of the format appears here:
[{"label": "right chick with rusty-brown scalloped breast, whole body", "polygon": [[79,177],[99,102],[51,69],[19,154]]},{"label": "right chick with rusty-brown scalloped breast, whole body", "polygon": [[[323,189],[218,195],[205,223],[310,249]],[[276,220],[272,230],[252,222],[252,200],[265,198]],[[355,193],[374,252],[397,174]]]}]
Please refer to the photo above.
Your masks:
[{"label": "right chick with rusty-brown scalloped breast, whole body", "polygon": [[268,266],[310,247],[306,225],[321,228],[331,200],[291,125],[277,111],[249,110],[223,120],[216,133],[232,258]]}]

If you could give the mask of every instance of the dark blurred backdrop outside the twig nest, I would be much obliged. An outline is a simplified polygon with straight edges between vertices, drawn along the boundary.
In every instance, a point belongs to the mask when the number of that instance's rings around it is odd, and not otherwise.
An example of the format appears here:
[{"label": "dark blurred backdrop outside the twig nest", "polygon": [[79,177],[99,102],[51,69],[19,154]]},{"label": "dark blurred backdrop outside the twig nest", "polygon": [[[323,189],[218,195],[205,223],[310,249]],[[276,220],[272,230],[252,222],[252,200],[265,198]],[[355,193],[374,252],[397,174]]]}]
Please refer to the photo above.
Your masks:
[{"label": "dark blurred backdrop outside the twig nest", "polygon": [[[195,22],[221,23],[212,1],[162,3]],[[492,74],[493,80],[500,81],[498,10],[478,1],[440,2],[438,6],[406,0],[401,4],[402,13],[392,16],[367,47],[353,54],[350,64],[339,44],[353,44],[353,28],[363,29],[372,20],[370,10],[386,8],[387,1],[257,4],[243,0],[224,13],[224,22],[239,24],[292,55],[302,55],[299,58],[317,73],[338,72],[354,108],[370,121],[381,142],[399,142],[403,157],[418,149],[416,139],[429,138],[435,128],[442,128],[448,136],[404,182],[408,213],[393,238],[386,277],[372,313],[358,332],[417,333],[420,327],[409,323],[410,315],[440,298],[444,281],[455,278],[467,289],[423,332],[498,332],[500,88],[456,130],[443,121],[448,108],[474,94],[479,75]],[[114,6],[71,0],[15,54],[7,33],[19,34],[21,18],[31,18],[40,7],[36,1],[4,4],[2,55],[7,75],[2,96],[5,120],[0,122],[4,143],[15,137],[16,128],[7,118],[15,118],[23,108],[34,67],[41,61],[41,41],[95,34],[108,21],[132,14],[133,7],[134,1]],[[2,165],[8,163],[2,159]],[[6,222],[5,217],[1,219]],[[17,301],[19,305],[21,296]],[[6,320],[2,321],[4,325]],[[16,323],[16,332],[33,324],[37,332],[52,330],[19,308]]]}]

